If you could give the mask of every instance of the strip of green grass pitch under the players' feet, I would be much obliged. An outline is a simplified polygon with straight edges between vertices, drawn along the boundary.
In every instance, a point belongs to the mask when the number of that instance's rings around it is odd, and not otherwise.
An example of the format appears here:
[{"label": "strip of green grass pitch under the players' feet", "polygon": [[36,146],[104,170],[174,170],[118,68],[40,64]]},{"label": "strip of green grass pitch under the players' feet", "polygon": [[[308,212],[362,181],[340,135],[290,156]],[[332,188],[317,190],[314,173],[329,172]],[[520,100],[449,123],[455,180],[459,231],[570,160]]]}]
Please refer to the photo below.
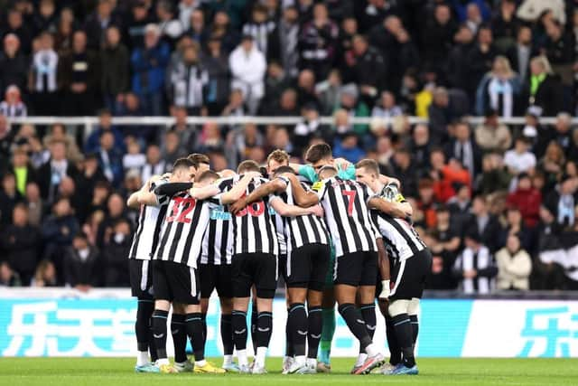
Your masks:
[{"label": "strip of green grass pitch under the players' feet", "polygon": [[[214,362],[219,363],[215,360]],[[417,376],[349,375],[353,359],[332,360],[333,372],[281,375],[280,358],[268,358],[266,375],[136,374],[132,358],[1,358],[0,385],[578,385],[576,359],[418,360]]]}]

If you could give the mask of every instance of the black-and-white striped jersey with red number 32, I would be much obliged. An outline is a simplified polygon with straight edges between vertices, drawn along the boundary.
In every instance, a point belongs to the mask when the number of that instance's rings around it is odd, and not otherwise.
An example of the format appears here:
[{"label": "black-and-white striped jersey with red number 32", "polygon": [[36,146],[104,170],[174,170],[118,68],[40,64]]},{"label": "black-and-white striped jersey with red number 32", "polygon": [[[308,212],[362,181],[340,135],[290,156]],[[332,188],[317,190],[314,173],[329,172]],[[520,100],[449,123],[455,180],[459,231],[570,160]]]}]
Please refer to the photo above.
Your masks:
[{"label": "black-and-white striped jersey with red number 32", "polygon": [[210,200],[199,201],[189,192],[174,195],[167,207],[154,259],[197,268],[202,239],[210,220]]}]

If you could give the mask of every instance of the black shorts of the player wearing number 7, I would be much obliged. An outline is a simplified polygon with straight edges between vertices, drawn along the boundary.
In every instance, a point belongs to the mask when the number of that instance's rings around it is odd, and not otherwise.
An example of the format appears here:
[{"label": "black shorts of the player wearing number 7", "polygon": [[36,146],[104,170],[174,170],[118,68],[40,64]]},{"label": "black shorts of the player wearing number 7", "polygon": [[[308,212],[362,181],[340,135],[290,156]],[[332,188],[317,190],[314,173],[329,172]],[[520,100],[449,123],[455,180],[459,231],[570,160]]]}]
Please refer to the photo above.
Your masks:
[{"label": "black shorts of the player wearing number 7", "polygon": [[349,286],[375,286],[378,272],[378,252],[347,253],[335,259],[334,284]]}]

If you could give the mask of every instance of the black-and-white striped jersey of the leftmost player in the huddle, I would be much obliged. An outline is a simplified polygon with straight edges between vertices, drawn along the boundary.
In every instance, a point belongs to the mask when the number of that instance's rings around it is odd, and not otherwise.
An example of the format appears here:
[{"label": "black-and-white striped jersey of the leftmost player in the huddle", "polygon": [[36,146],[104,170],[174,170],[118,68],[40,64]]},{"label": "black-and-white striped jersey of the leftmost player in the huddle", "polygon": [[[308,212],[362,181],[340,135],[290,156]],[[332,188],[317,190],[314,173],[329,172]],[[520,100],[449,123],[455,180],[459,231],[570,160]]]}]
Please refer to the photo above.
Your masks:
[{"label": "black-and-white striped jersey of the leftmost player in the huddle", "polygon": [[[151,192],[156,186],[164,183],[166,180],[151,184]],[[153,257],[163,225],[164,214],[170,201],[171,197],[169,196],[157,195],[157,205],[141,205],[128,259],[150,260]]]}]

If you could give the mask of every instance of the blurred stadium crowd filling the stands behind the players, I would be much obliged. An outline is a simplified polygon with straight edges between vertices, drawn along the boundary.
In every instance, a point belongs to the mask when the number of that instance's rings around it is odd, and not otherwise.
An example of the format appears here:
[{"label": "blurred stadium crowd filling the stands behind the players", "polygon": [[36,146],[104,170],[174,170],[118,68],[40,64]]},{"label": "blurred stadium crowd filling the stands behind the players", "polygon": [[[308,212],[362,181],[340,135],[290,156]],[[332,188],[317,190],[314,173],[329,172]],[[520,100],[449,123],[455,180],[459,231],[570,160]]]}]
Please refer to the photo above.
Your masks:
[{"label": "blurred stadium crowd filling the stands behind the players", "polygon": [[[402,182],[433,251],[428,287],[483,292],[489,278],[489,290],[578,289],[574,6],[2,0],[0,285],[127,287],[137,213],[126,197],[152,174],[192,152],[216,171],[276,148],[303,162],[326,141],[335,157],[376,159]],[[9,124],[95,114],[91,133]],[[111,124],[155,115],[175,124]],[[190,126],[191,115],[303,120]],[[485,118],[474,127],[469,115]],[[501,122],[514,116],[526,123]]]}]

